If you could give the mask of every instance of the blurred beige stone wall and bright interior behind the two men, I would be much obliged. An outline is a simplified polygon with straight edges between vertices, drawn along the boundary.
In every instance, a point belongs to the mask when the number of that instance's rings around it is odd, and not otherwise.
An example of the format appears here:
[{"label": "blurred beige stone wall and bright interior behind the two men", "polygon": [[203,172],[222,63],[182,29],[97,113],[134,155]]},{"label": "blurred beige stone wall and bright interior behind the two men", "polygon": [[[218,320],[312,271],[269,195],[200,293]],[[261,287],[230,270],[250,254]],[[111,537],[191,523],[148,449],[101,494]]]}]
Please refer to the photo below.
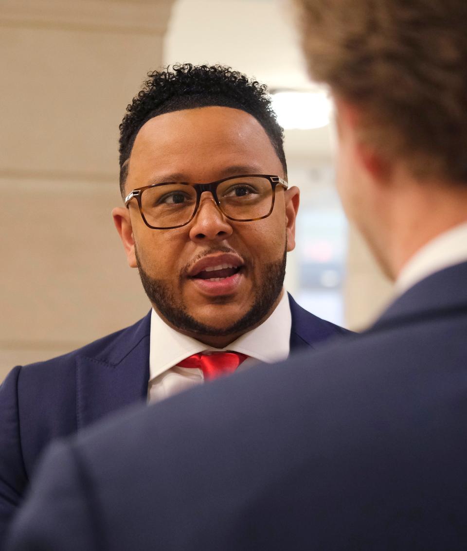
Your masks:
[{"label": "blurred beige stone wall and bright interior behind the two men", "polygon": [[163,64],[228,64],[277,93],[318,98],[305,107],[316,120],[289,120],[290,100],[280,120],[288,179],[302,192],[286,286],[355,329],[389,299],[336,196],[332,115],[307,78],[286,2],[2,0],[0,47],[0,380],[147,312],[110,212],[121,202],[118,125]]}]

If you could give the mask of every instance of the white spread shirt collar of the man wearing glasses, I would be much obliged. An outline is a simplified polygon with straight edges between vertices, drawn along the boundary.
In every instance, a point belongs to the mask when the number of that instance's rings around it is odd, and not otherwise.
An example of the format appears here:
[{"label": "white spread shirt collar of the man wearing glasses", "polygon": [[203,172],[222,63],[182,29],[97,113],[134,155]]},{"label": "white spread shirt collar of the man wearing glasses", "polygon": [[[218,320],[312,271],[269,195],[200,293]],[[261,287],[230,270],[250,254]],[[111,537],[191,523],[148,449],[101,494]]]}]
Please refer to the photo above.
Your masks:
[{"label": "white spread shirt collar of the man wearing glasses", "polygon": [[173,368],[179,361],[203,350],[234,350],[266,363],[285,359],[290,350],[291,327],[292,315],[285,290],[266,321],[241,335],[225,348],[208,347],[192,337],[179,333],[169,327],[153,309],[149,337],[149,380]]}]

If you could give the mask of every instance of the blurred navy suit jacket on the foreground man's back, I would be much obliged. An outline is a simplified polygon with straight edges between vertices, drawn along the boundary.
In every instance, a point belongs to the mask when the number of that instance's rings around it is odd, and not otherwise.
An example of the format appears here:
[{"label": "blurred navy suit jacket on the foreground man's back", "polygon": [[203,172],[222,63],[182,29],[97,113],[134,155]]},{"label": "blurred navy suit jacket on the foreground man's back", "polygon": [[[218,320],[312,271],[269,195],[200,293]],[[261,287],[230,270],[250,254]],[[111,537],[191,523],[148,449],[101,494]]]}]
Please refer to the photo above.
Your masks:
[{"label": "blurred navy suit jacket on the foreground man's back", "polygon": [[8,551],[467,546],[467,263],[361,336],[56,443]]}]

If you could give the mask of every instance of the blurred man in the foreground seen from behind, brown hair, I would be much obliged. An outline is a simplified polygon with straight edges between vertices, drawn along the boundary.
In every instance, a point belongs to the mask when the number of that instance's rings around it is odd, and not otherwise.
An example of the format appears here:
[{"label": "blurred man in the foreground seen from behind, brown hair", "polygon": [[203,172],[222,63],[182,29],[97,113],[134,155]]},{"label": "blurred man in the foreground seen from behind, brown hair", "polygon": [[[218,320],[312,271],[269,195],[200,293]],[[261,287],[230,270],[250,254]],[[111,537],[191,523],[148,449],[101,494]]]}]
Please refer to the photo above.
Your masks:
[{"label": "blurred man in the foreground seen from behind, brown hair", "polygon": [[465,549],[467,3],[298,4],[343,205],[398,296],[360,336],[55,445],[10,551]]}]

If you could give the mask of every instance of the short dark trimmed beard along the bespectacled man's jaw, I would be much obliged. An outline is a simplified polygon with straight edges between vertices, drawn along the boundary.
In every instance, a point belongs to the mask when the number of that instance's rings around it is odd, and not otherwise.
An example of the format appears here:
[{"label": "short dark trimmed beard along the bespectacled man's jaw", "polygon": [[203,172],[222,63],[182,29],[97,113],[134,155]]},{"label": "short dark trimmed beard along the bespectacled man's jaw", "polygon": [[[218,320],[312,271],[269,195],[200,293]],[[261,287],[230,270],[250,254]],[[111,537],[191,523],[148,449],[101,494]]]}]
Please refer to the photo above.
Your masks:
[{"label": "short dark trimmed beard along the bespectacled man's jaw", "polygon": [[[230,249],[222,249],[222,247],[216,249],[216,252],[219,250],[222,250],[222,252],[231,252]],[[139,277],[141,278],[144,291],[146,291],[152,304],[171,325],[180,331],[189,333],[210,337],[227,337],[230,334],[246,333],[250,329],[253,329],[253,327],[259,325],[261,320],[271,313],[271,309],[280,295],[284,283],[287,243],[281,260],[268,262],[262,267],[260,274],[261,283],[256,283],[255,285],[254,300],[251,308],[248,312],[245,312],[239,320],[226,327],[214,327],[196,320],[196,318],[189,314],[187,305],[175,295],[174,290],[165,280],[152,278],[144,270],[141,260],[138,257],[136,247],[135,255]],[[225,303],[227,301],[228,299],[222,300],[221,298],[221,301],[214,299],[213,303],[216,302],[219,304],[220,302]]]}]

